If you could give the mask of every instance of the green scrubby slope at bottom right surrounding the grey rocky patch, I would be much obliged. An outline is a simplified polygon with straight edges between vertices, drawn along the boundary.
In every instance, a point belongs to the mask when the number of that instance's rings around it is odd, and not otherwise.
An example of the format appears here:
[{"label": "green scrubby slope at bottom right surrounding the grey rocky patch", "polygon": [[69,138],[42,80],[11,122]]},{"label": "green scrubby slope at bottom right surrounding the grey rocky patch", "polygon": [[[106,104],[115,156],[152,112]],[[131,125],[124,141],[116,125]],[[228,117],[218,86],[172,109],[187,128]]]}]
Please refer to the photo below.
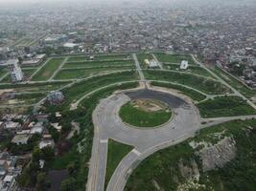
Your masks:
[{"label": "green scrubby slope at bottom right surrounding the grey rocky patch", "polygon": [[[178,190],[178,186],[188,183],[189,175],[194,174],[192,168],[195,167],[195,162],[193,161],[196,161],[198,166],[199,180],[193,179],[196,185],[189,184],[191,186],[187,187],[190,189],[184,190],[253,191],[256,187],[255,130],[255,119],[235,120],[203,129],[196,138],[190,138],[175,146],[157,151],[148,159],[144,159],[129,177],[125,191]],[[217,137],[216,135],[220,134],[235,139],[237,156],[223,168],[202,172],[201,160],[197,155],[198,150],[193,149],[189,142],[192,140],[208,142],[209,137]],[[181,173],[181,162],[185,165],[186,172],[189,172],[187,177]]]}]

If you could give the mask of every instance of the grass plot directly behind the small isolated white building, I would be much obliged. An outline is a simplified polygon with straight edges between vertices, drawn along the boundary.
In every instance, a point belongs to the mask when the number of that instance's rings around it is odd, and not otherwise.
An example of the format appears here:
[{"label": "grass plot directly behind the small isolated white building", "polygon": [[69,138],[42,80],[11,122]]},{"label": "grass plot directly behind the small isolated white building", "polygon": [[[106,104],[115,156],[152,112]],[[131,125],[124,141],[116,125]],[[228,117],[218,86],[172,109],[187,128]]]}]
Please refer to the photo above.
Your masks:
[{"label": "grass plot directly behind the small isolated white building", "polygon": [[153,53],[160,62],[178,63],[187,60],[189,65],[196,65],[193,58],[189,54],[169,54],[169,53]]}]

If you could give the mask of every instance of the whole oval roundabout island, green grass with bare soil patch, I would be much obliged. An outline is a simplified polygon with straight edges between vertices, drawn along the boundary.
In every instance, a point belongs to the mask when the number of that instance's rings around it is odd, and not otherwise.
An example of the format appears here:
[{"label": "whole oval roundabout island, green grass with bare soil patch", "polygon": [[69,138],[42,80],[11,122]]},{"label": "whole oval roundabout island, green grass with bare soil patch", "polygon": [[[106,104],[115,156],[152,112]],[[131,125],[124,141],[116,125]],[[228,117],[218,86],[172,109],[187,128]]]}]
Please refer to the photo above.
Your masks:
[{"label": "whole oval roundabout island, green grass with bare soil patch", "polygon": [[119,116],[131,126],[153,128],[168,122],[172,117],[172,110],[162,101],[143,98],[123,105]]}]

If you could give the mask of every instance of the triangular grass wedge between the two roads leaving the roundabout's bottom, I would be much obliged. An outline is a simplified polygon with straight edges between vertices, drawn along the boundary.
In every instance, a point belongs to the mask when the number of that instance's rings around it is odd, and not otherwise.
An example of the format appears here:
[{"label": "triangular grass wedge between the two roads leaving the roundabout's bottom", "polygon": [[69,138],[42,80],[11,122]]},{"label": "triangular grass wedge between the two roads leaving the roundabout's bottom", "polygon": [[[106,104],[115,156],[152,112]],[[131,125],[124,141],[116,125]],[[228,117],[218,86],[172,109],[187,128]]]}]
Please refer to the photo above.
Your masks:
[{"label": "triangular grass wedge between the two roads leaving the roundabout's bottom", "polygon": [[132,146],[108,139],[105,188],[120,161],[132,150]]}]

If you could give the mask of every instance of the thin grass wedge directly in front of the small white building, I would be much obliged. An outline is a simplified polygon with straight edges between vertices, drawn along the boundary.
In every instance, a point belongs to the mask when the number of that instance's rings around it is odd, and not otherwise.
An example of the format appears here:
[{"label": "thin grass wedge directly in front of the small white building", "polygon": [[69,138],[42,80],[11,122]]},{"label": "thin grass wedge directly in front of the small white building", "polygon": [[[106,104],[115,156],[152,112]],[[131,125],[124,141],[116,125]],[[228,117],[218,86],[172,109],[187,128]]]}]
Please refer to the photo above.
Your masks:
[{"label": "thin grass wedge directly in front of the small white building", "polygon": [[176,64],[169,64],[169,63],[164,63],[164,68],[170,71],[179,71],[179,72],[184,72],[184,73],[190,73],[190,74],[199,74],[199,75],[203,75],[206,77],[212,77],[213,79],[215,79],[215,77],[208,73],[205,69],[199,67],[199,66],[189,66],[189,68],[187,70],[180,70],[179,69],[179,65]]}]

